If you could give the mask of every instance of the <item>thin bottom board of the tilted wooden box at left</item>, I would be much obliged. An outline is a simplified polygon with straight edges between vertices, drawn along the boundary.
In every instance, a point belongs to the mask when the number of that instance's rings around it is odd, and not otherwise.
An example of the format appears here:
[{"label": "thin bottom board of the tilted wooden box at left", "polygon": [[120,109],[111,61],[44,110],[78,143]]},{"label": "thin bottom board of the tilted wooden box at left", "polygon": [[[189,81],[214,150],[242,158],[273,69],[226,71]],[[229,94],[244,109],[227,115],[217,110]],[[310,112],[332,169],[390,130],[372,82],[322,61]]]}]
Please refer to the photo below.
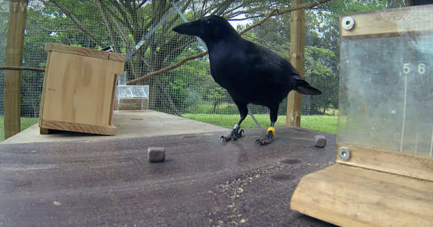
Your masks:
[{"label": "thin bottom board of the tilted wooden box at left", "polygon": [[117,128],[112,125],[100,126],[100,125],[85,125],[78,123],[66,123],[56,120],[43,120],[42,128],[52,130],[64,130],[72,132],[85,132],[92,134],[102,134],[107,136],[114,136],[117,133]]}]

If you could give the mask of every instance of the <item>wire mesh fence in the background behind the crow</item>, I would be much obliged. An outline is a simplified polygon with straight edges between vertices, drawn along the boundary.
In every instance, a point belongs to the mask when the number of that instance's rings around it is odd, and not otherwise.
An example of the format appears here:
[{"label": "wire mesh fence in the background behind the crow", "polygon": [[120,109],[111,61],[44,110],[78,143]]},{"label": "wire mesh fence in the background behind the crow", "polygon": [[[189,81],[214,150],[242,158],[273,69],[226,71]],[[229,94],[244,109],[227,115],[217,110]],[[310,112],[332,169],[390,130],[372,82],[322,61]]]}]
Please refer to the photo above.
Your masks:
[{"label": "wire mesh fence in the background behind the crow", "polygon": [[[7,2],[0,0],[1,3]],[[312,2],[312,1],[307,1]],[[322,95],[304,95],[301,127],[336,132],[338,114],[339,40],[338,19],[345,13],[402,6],[402,1],[334,0],[306,9],[305,75]],[[127,81],[162,70],[187,56],[205,51],[191,36],[171,31],[173,26],[205,15],[221,15],[242,31],[260,21],[274,8],[288,8],[287,1],[29,1],[24,38],[23,65],[45,68],[46,42],[131,53],[125,64]],[[4,64],[8,13],[0,12],[0,64]],[[290,58],[290,13],[271,17],[242,36],[281,56]],[[0,70],[3,83],[3,71]],[[43,72],[22,71],[22,126],[37,123]],[[137,84],[149,86],[149,109],[233,127],[239,120],[237,107],[228,93],[214,82],[207,55]],[[3,116],[3,84],[0,88]],[[276,126],[285,125],[287,101],[283,100]],[[269,126],[266,107],[249,105],[262,127]],[[1,120],[3,136],[3,120]],[[248,117],[242,127],[257,127]]]}]

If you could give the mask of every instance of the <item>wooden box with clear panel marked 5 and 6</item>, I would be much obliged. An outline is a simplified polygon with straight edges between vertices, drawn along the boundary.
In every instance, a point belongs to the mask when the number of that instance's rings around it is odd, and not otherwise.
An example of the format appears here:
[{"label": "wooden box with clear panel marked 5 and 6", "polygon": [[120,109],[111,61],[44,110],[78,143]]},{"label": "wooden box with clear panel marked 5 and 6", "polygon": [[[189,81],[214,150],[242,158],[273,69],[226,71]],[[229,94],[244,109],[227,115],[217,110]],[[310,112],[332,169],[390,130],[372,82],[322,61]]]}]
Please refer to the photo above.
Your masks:
[{"label": "wooden box with clear panel marked 5 and 6", "polygon": [[338,226],[433,226],[433,5],[340,23],[336,164],[290,208]]}]

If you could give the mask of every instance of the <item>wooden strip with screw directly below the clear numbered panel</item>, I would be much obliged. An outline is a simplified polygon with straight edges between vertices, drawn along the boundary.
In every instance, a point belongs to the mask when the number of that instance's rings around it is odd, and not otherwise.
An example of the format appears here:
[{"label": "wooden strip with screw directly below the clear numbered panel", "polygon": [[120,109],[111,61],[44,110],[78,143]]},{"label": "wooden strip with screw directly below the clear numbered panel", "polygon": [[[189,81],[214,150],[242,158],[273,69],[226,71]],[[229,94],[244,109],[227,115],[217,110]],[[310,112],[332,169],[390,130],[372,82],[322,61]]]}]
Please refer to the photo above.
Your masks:
[{"label": "wooden strip with screw directly below the clear numbered panel", "polygon": [[433,159],[427,156],[360,148],[349,144],[338,144],[337,152],[343,146],[349,148],[350,158],[347,161],[337,159],[338,163],[433,181]]}]

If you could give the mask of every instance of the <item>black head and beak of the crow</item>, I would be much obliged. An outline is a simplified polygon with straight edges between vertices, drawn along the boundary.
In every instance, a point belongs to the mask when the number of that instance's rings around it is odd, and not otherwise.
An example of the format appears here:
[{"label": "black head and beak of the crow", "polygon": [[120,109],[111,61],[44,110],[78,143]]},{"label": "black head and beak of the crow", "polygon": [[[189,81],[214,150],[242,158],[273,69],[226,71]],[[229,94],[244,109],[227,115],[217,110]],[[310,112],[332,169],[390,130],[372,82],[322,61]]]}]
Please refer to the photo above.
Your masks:
[{"label": "black head and beak of the crow", "polygon": [[189,36],[198,36],[206,44],[216,42],[226,37],[239,36],[233,26],[223,17],[212,15],[203,17],[194,22],[180,24],[173,28],[173,31]]}]

